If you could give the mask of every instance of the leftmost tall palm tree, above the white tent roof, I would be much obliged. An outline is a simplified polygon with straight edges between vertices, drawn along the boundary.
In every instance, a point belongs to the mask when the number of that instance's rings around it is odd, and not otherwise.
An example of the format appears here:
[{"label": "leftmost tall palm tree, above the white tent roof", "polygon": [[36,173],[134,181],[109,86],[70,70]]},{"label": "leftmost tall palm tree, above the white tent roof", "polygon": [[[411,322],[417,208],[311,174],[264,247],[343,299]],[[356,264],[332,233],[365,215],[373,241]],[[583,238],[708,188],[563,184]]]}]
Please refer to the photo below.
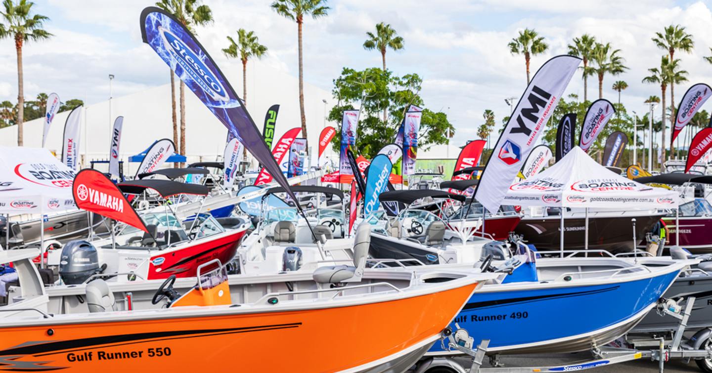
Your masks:
[{"label": "leftmost tall palm tree, above the white tent roof", "polygon": [[52,36],[42,28],[44,21],[48,17],[32,13],[32,1],[4,0],[2,2],[4,11],[0,11],[2,23],[0,23],[0,38],[14,38],[15,51],[17,53],[17,105],[21,108],[17,112],[17,146],[23,145],[22,125],[24,120],[25,107],[25,87],[22,73],[22,46],[28,41],[40,41]]}]

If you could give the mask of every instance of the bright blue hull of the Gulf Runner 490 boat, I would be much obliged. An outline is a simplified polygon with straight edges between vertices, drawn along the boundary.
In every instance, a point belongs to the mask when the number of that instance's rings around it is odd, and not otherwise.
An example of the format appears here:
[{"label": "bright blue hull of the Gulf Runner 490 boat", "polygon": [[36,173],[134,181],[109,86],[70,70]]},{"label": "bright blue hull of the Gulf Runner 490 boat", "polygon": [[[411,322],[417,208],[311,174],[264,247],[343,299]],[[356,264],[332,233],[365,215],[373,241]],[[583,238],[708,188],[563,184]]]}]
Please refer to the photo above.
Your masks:
[{"label": "bright blue hull of the Gulf Runner 490 boat", "polygon": [[[506,291],[476,291],[455,322],[466,329],[476,343],[490,340],[490,348],[542,343],[602,330],[655,303],[679,272],[608,285]],[[514,284],[512,284],[514,285]],[[440,352],[436,342],[429,352]],[[555,351],[552,351],[555,352]]]}]

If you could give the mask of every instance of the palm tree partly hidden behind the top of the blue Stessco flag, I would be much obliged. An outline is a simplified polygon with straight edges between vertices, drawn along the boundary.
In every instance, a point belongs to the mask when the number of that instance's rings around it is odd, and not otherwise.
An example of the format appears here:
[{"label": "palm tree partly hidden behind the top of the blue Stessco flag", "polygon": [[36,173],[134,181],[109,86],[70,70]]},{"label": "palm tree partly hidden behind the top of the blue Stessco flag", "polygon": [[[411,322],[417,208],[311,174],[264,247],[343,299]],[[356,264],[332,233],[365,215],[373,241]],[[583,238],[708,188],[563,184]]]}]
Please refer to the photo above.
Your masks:
[{"label": "palm tree partly hidden behind the top of the blue Stessco flag", "polygon": [[[205,25],[213,21],[213,13],[207,5],[199,5],[199,0],[161,0],[156,6],[173,14],[182,25],[195,33],[195,26]],[[173,109],[173,140],[176,140],[176,109],[174,93],[174,77],[171,71],[171,98]],[[180,81],[180,154],[185,154],[185,83]]]}]

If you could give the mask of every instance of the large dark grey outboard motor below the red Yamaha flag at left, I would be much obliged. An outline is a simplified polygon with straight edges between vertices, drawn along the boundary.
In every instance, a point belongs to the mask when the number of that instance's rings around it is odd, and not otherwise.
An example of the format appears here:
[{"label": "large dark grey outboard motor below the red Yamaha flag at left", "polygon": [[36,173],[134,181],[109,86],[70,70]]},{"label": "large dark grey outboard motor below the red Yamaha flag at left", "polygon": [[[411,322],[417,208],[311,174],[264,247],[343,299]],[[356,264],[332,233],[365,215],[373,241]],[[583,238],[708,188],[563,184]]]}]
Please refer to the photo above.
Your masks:
[{"label": "large dark grey outboard motor below the red Yamaha flag at left", "polygon": [[99,256],[94,245],[88,241],[69,241],[62,248],[59,276],[67,285],[77,285],[101,272]]}]

